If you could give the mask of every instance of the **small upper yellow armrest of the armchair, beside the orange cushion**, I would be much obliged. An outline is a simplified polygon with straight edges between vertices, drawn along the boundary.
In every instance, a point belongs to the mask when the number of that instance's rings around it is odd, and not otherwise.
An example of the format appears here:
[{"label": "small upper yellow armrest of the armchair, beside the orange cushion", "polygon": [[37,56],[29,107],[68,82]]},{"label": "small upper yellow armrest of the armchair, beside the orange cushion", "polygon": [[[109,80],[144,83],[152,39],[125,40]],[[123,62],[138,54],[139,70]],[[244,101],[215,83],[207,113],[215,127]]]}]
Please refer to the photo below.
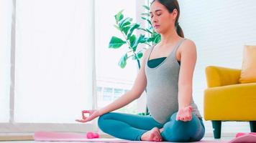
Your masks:
[{"label": "small upper yellow armrest of the armchair, beside the orange cushion", "polygon": [[206,81],[208,87],[221,87],[239,84],[241,69],[230,69],[220,66],[206,67]]}]

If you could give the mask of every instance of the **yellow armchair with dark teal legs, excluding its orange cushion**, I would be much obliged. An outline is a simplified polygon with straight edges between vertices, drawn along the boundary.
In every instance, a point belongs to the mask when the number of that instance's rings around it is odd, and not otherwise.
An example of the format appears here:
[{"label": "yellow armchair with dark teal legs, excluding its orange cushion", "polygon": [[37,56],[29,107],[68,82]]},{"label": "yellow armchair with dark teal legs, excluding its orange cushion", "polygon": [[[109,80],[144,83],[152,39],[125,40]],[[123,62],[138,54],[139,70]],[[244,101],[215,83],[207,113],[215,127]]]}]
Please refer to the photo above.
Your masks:
[{"label": "yellow armchair with dark teal legs, excluding its orange cushion", "polygon": [[221,122],[250,122],[256,132],[256,83],[239,84],[240,69],[206,67],[204,119],[211,120],[214,138],[221,137]]}]

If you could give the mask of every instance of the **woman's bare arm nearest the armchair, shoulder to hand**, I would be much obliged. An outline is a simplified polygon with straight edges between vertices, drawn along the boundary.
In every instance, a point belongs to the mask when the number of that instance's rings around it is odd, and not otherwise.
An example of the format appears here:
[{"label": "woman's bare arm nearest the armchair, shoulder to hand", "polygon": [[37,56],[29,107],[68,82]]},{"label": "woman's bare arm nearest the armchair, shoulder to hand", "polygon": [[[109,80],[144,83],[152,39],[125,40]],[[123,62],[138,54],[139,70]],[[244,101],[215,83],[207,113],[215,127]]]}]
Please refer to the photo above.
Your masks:
[{"label": "woman's bare arm nearest the armchair, shoulder to hand", "polygon": [[[186,40],[180,46],[180,74],[178,80],[178,110],[183,113],[178,114],[176,119],[188,121],[191,119],[191,99],[193,71],[196,66],[196,45],[191,40]],[[189,107],[189,108],[188,108]],[[178,112],[179,113],[179,112]]]}]

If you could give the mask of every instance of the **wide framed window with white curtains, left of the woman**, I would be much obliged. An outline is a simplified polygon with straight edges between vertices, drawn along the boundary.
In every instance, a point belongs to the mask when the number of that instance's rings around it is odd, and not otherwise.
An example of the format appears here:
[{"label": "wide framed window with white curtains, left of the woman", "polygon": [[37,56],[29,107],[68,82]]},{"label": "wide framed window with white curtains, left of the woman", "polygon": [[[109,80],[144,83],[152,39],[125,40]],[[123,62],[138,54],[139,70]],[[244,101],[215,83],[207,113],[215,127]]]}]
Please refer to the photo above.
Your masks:
[{"label": "wide framed window with white curtains, left of the woman", "polygon": [[75,122],[93,108],[93,1],[14,1],[14,26],[9,3],[0,4],[0,132],[93,129]]}]

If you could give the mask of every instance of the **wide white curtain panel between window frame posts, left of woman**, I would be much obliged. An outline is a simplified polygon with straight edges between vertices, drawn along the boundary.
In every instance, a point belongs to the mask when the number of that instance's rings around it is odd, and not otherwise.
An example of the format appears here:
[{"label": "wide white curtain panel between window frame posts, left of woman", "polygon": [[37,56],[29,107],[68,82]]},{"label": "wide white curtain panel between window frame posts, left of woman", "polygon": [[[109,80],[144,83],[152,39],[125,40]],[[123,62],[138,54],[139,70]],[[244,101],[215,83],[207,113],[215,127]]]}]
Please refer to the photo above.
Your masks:
[{"label": "wide white curtain panel between window frame posts, left of woman", "polygon": [[93,1],[16,9],[14,122],[75,123],[93,106]]}]

